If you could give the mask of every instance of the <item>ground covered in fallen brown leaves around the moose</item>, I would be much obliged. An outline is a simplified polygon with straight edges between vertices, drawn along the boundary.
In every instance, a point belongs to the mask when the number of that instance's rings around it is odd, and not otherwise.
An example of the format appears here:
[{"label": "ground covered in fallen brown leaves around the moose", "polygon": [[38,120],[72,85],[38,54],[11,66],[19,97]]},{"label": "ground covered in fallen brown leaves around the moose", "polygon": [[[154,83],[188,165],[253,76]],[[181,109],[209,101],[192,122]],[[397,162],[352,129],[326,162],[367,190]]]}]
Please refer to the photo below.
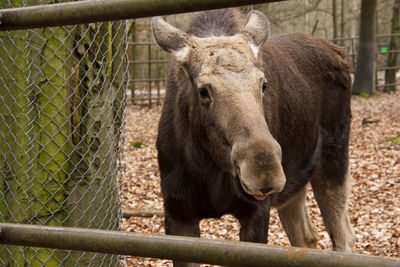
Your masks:
[{"label": "ground covered in fallen brown leaves around the moose", "polygon": [[[353,187],[349,214],[356,232],[355,252],[400,257],[400,91],[369,99],[352,97],[350,171]],[[155,139],[161,107],[128,106],[124,175],[124,207],[162,209]],[[331,249],[311,190],[311,220],[320,235],[319,249]],[[163,218],[131,217],[123,230],[164,234]],[[238,240],[239,224],[229,215],[201,222],[201,236]],[[277,213],[271,214],[269,244],[288,246]],[[171,261],[127,257],[128,266],[171,266]]]}]

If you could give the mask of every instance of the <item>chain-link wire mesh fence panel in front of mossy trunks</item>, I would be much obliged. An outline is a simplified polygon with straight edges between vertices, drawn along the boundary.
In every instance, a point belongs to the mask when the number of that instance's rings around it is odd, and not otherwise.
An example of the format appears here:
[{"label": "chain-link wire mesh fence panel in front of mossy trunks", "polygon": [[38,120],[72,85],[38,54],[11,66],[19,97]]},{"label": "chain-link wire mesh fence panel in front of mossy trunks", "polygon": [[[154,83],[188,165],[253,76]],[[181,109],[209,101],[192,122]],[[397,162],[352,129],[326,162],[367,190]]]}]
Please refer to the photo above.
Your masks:
[{"label": "chain-link wire mesh fence panel in front of mossy trunks", "polygon": [[[125,22],[0,32],[0,222],[119,229],[126,46]],[[2,266],[118,263],[0,247]]]}]

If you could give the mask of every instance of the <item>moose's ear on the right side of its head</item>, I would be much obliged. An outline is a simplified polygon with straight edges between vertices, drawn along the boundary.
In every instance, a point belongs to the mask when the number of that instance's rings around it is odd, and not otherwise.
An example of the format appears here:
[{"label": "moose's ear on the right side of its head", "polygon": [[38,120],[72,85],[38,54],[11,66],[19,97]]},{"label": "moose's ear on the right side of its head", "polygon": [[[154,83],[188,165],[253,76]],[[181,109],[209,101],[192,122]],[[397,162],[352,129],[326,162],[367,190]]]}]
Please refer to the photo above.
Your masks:
[{"label": "moose's ear on the right side of its head", "polygon": [[257,57],[258,49],[268,39],[269,21],[267,17],[258,10],[249,12],[241,33],[250,38],[250,47],[254,56]]}]

